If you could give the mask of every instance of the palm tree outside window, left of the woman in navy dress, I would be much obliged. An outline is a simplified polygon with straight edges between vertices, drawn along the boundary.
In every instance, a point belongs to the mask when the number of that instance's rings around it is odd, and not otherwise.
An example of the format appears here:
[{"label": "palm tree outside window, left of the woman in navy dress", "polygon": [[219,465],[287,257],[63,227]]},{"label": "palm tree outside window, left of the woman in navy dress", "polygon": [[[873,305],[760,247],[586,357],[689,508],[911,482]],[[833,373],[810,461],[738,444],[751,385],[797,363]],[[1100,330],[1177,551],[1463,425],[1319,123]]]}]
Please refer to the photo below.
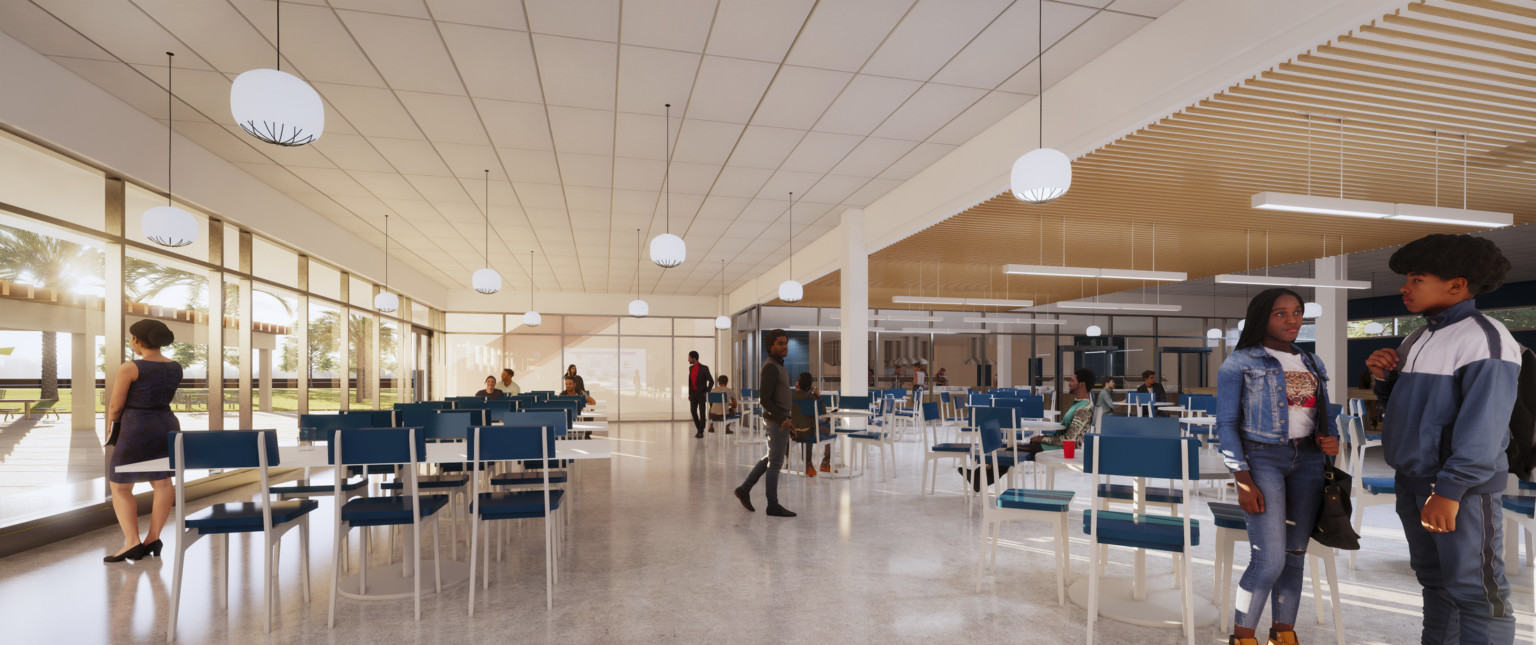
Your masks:
[{"label": "palm tree outside window, left of the woman in navy dress", "polygon": [[[101,275],[101,252],[71,241],[0,226],[0,280],[65,289]],[[80,378],[77,375],[77,378]],[[41,399],[58,399],[58,332],[43,330]]]}]

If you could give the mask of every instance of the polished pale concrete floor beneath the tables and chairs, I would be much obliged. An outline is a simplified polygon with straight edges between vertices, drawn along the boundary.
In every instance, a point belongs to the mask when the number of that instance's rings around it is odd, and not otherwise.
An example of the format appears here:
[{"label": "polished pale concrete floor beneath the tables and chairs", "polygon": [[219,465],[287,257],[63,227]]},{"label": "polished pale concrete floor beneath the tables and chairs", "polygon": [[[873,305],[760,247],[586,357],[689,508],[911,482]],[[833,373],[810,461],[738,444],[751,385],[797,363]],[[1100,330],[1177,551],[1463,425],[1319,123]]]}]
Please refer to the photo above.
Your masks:
[{"label": "polished pale concrete floor beneath the tables and chairs", "polygon": [[[475,617],[465,616],[468,590],[458,585],[412,602],[341,599],[336,627],[326,628],[330,584],[332,507],[312,514],[312,584],[303,602],[298,584],[298,531],[284,538],[276,619],[261,631],[261,554],[249,538],[230,539],[229,608],[218,607],[214,541],[187,556],[178,640],[275,643],[396,642],[625,642],[625,643],[785,643],[785,642],[1081,642],[1086,613],[1058,607],[1051,570],[1049,528],[1029,522],[1005,528],[998,571],[975,591],[978,513],[968,511],[960,478],[943,468],[938,493],[919,495],[922,447],[897,447],[899,478],[879,468],[852,479],[780,479],[794,519],[746,513],[731,488],[746,475],[759,448],[737,448],[727,436],[694,439],[687,424],[616,424],[611,462],[581,464],[570,508],[567,551],[554,610],[545,611],[542,531],[536,524],[513,534],[507,559],[493,562],[490,588],[478,591]],[[1378,464],[1376,468],[1381,465]],[[1058,488],[1086,479],[1057,478]],[[250,490],[226,498],[249,499]],[[1197,508],[1204,508],[1198,505]],[[1206,514],[1206,513],[1200,513]],[[144,519],[147,524],[147,519]],[[1075,527],[1074,527],[1075,528]],[[1366,550],[1358,570],[1339,561],[1344,627],[1350,643],[1418,640],[1419,597],[1407,568],[1401,528],[1390,507],[1367,513]],[[382,533],[379,533],[382,534]],[[447,527],[444,527],[447,536]],[[459,531],[464,539],[464,531]],[[1212,597],[1212,544],[1206,528],[1193,551],[1193,591]],[[115,527],[0,559],[0,625],[6,643],[164,642],[170,594],[169,557],[103,565],[120,544]],[[1072,531],[1072,571],[1087,573],[1089,553]],[[167,541],[169,542],[169,541]],[[447,545],[444,545],[445,548]],[[373,562],[392,554],[375,541]],[[166,554],[172,553],[167,544]],[[398,553],[398,550],[396,550]],[[429,550],[430,553],[430,550]],[[1111,574],[1126,574],[1130,551],[1112,550]],[[464,548],[459,548],[464,557]],[[1240,548],[1238,565],[1246,562]],[[1167,557],[1152,554],[1149,570],[1167,585]],[[1531,640],[1530,568],[1514,576],[1527,587],[1514,596],[1521,628]],[[1298,628],[1307,643],[1332,643],[1333,627],[1313,620],[1310,590]],[[1178,630],[1098,622],[1100,642],[1175,643]],[[1197,642],[1226,642],[1215,627]]]}]

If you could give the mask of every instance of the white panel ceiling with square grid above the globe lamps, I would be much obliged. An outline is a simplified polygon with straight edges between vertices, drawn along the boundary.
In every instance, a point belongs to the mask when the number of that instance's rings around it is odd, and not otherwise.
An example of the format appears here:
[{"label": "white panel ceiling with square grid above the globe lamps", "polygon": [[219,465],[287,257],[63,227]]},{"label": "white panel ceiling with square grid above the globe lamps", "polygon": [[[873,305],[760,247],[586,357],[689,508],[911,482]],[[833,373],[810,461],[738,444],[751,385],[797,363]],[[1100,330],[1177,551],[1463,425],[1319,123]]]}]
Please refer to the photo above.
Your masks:
[{"label": "white panel ceiling with square grid above the globe lamps", "polygon": [[[1046,86],[1178,0],[1046,0]],[[283,2],[283,69],[326,134],[244,135],[229,84],[278,60],[272,0],[0,2],[0,31],[253,177],[468,287],[487,252],[510,287],[625,292],[634,227],[670,221],[690,261],[642,263],[642,293],[713,295],[780,261],[1037,92],[1037,0]],[[660,115],[671,103],[673,123]],[[673,140],[671,217],[667,141]],[[490,237],[485,235],[490,170]],[[409,240],[407,240],[409,238]]]}]

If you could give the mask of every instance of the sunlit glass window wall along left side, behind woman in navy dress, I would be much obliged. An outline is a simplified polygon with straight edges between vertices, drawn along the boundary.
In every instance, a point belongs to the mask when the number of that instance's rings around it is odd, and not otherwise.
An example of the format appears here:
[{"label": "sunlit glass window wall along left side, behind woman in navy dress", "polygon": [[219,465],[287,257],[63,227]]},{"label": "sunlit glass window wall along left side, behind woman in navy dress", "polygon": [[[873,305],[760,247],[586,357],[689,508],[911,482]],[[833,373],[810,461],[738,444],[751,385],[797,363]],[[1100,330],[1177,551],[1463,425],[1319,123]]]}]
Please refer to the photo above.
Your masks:
[{"label": "sunlit glass window wall along left side, behind woman in navy dress", "polygon": [[430,379],[439,312],[401,298],[381,315],[373,283],[189,204],[198,240],[157,246],[140,215],[160,204],[0,132],[0,527],[106,501],[106,393],[140,319],[175,333],[183,430],[292,442],[300,413],[409,401],[402,370]]}]

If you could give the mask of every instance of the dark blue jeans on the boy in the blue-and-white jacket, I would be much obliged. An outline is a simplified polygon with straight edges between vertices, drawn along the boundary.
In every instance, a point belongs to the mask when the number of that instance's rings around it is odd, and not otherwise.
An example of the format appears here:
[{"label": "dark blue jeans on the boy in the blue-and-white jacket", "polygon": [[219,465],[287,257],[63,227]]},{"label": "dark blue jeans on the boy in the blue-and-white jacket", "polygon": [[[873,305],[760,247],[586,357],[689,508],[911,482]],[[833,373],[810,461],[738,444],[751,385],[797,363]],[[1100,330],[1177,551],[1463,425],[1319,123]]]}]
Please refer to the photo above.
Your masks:
[{"label": "dark blue jeans on the boy in the blue-and-white jacket", "polygon": [[1398,518],[1409,539],[1409,565],[1424,585],[1424,633],[1428,643],[1513,643],[1514,607],[1504,577],[1502,495],[1467,495],[1456,530],[1430,533],[1419,524],[1428,496],[1398,485]]}]

